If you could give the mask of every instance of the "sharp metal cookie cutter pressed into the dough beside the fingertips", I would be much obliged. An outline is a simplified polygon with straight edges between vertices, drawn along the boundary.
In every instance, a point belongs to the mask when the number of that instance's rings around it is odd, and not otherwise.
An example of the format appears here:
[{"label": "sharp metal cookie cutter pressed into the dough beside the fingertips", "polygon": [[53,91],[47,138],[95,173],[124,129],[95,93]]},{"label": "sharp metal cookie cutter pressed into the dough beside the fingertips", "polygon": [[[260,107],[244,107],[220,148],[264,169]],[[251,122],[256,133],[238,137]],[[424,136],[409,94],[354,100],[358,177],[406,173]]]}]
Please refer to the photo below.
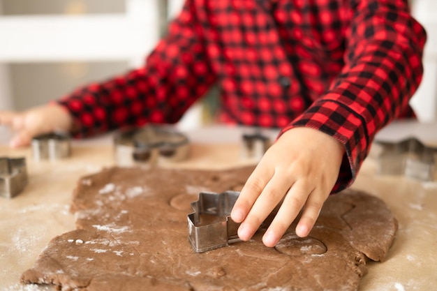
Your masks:
[{"label": "sharp metal cookie cutter pressed into the dough beside the fingertips", "polygon": [[239,192],[199,193],[199,200],[192,202],[194,212],[188,214],[188,239],[196,253],[228,246],[239,241],[239,223],[230,218],[230,211]]}]

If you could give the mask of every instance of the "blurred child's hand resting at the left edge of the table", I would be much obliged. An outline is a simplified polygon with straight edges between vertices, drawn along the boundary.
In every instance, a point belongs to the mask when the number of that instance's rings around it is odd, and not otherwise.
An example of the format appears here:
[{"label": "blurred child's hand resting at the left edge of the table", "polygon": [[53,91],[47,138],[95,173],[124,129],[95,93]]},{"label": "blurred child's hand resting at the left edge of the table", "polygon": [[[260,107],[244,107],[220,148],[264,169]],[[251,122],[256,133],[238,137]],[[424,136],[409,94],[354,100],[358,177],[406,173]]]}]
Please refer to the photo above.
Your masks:
[{"label": "blurred child's hand resting at the left edge of the table", "polygon": [[69,131],[73,120],[60,105],[35,107],[25,112],[0,111],[0,126],[8,126],[15,135],[10,140],[11,147],[24,147],[32,137],[54,130]]}]

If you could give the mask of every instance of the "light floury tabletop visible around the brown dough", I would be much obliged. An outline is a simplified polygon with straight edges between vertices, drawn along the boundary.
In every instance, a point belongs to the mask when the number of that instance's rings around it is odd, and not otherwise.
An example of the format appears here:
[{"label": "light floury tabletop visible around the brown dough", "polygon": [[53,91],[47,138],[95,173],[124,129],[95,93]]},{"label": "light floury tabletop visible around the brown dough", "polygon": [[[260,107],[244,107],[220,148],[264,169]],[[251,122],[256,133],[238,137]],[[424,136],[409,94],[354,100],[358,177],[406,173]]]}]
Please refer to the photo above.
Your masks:
[{"label": "light floury tabletop visible around the brown dough", "polygon": [[[240,138],[247,128],[212,126],[186,134],[191,157],[172,167],[225,169],[253,164],[241,156]],[[5,133],[3,128],[3,133]],[[269,132],[274,138],[275,131]],[[414,135],[437,144],[437,124],[392,124],[378,134],[382,140]],[[50,290],[21,285],[23,271],[33,266],[54,237],[75,229],[69,212],[72,191],[80,177],[114,165],[112,136],[73,141],[73,154],[59,161],[34,161],[31,150],[10,149],[1,134],[0,156],[26,157],[29,185],[13,199],[0,197],[0,290]],[[376,174],[371,156],[352,186],[383,199],[399,221],[399,230],[385,262],[369,262],[360,291],[436,290],[437,182]]]}]

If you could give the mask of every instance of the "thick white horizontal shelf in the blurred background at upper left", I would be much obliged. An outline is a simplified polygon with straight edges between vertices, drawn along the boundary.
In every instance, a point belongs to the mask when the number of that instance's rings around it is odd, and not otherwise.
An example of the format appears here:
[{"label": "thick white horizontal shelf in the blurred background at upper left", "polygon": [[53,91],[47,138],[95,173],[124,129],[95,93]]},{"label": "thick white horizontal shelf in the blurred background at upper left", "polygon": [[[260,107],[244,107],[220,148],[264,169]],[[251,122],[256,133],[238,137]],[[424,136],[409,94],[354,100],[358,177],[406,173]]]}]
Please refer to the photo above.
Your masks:
[{"label": "thick white horizontal shelf in the blurred background at upper left", "polygon": [[145,55],[158,40],[154,17],[125,14],[0,17],[0,62],[112,61]]}]

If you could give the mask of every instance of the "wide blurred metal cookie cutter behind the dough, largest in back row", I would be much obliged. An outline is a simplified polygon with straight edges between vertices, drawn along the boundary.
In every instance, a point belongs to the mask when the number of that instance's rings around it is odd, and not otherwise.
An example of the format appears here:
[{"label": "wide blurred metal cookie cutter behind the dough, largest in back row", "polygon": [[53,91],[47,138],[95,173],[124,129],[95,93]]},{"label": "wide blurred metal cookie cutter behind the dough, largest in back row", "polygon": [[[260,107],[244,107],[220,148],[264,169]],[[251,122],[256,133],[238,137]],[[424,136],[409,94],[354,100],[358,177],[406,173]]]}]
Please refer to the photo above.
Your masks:
[{"label": "wide blurred metal cookie cutter behind the dough, largest in back row", "polygon": [[189,154],[188,137],[169,128],[148,125],[119,132],[114,137],[118,165],[177,162]]}]

